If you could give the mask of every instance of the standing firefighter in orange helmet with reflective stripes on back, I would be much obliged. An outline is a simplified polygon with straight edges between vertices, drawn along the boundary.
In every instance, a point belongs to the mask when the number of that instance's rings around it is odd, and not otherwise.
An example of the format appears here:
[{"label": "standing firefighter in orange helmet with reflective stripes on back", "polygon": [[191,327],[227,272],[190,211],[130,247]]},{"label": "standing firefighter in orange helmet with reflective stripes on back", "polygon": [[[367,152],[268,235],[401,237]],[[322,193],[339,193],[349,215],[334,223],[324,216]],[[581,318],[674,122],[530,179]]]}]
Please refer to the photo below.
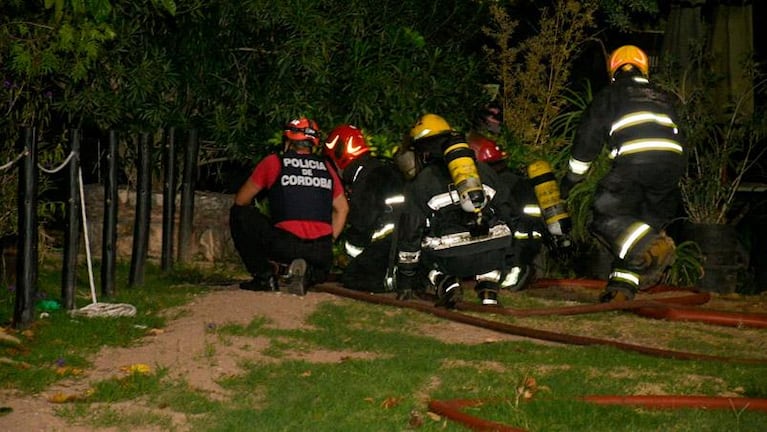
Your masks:
[{"label": "standing firefighter in orange helmet with reflective stripes on back", "polygon": [[678,118],[649,80],[647,54],[622,46],[607,69],[610,84],[584,112],[561,182],[567,197],[607,145],[611,167],[597,185],[590,226],[615,257],[602,302],[633,299],[672,264],[675,245],[664,229],[677,214],[686,166]]}]

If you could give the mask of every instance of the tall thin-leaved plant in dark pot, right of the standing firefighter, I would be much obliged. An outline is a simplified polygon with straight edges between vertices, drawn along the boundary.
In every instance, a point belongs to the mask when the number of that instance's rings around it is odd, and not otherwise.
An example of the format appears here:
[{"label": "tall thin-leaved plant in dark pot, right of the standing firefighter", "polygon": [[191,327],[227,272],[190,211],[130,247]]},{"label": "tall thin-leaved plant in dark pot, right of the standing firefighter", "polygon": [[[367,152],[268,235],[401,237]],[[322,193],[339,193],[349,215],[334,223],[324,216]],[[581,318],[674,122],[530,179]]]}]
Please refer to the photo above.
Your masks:
[{"label": "tall thin-leaved plant in dark pot, right of the standing firefighter", "polygon": [[697,286],[703,291],[734,292],[739,275],[748,267],[736,225],[749,208],[739,199],[739,191],[767,150],[762,142],[765,117],[750,108],[767,80],[756,78],[731,104],[716,103],[711,83],[679,85],[675,91],[689,149],[688,169],[680,184],[686,216],[680,237],[700,248],[702,277]]}]

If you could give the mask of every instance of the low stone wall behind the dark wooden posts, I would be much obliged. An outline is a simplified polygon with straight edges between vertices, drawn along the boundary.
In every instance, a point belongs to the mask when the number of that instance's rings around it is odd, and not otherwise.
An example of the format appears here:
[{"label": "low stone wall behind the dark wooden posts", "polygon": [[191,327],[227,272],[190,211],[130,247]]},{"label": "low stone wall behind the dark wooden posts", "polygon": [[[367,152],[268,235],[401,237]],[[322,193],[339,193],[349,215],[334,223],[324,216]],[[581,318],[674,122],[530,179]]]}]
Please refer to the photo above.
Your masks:
[{"label": "low stone wall behind the dark wooden posts", "polygon": [[[85,186],[85,207],[88,223],[88,242],[91,256],[101,258],[102,234],[104,227],[104,188],[101,185]],[[136,211],[136,193],[120,189],[117,193],[117,260],[130,260],[133,249],[133,221]],[[231,194],[195,192],[194,218],[190,239],[192,261],[238,262],[229,234],[229,207]],[[160,259],[162,254],[162,194],[153,194],[149,222],[149,258]],[[176,199],[173,232],[173,261],[178,256],[179,202]],[[82,249],[84,253],[85,250]]]}]

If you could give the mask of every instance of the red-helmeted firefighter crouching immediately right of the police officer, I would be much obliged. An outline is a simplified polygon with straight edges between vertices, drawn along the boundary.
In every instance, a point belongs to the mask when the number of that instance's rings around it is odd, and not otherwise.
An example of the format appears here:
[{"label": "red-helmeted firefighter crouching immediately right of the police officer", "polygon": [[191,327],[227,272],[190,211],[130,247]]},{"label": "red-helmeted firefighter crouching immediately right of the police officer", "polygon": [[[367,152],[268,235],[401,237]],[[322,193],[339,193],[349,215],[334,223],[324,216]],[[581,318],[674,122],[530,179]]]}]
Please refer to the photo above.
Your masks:
[{"label": "red-helmeted firefighter crouching immediately right of the police officer", "polygon": [[323,151],[338,170],[349,202],[342,235],[350,259],[341,283],[361,291],[391,291],[392,233],[405,200],[405,178],[391,160],[373,156],[365,135],[353,125],[333,129]]}]

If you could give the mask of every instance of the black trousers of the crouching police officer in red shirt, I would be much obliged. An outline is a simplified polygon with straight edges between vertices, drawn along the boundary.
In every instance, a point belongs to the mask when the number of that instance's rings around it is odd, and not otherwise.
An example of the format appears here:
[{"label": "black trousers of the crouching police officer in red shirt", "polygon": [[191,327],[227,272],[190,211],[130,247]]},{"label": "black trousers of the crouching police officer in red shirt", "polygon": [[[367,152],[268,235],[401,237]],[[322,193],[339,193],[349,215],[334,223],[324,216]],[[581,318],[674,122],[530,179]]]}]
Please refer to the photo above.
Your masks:
[{"label": "black trousers of the crouching police officer in red shirt", "polygon": [[311,283],[319,283],[325,280],[333,263],[331,236],[301,239],[272,226],[269,218],[252,206],[232,206],[229,229],[234,247],[252,275],[273,272],[270,261],[290,264],[303,258],[311,269]]}]

